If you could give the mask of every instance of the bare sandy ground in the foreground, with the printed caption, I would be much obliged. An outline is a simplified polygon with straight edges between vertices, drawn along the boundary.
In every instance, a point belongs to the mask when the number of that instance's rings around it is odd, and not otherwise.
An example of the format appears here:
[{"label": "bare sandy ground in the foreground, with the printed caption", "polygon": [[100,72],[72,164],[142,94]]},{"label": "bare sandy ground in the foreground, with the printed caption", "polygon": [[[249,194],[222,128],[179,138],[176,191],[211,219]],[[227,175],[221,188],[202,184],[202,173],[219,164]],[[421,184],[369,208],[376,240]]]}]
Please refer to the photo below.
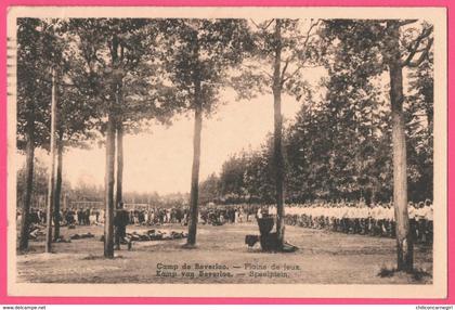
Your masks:
[{"label": "bare sandy ground in the foreground, with the printed caption", "polygon": [[[159,228],[129,227],[128,231],[157,229],[186,231],[178,224]],[[258,234],[256,224],[200,225],[198,246],[183,249],[184,240],[135,242],[131,251],[103,258],[102,227],[62,229],[62,235],[91,232],[94,238],[54,244],[43,254],[41,236],[30,250],[17,256],[18,282],[35,283],[317,283],[317,284],[426,284],[432,281],[432,248],[417,245],[415,267],[428,275],[381,277],[381,268],[395,266],[395,241],[347,235],[296,227],[286,238],[299,247],[290,254],[248,248],[246,234]],[[184,268],[186,263],[187,268]]]}]

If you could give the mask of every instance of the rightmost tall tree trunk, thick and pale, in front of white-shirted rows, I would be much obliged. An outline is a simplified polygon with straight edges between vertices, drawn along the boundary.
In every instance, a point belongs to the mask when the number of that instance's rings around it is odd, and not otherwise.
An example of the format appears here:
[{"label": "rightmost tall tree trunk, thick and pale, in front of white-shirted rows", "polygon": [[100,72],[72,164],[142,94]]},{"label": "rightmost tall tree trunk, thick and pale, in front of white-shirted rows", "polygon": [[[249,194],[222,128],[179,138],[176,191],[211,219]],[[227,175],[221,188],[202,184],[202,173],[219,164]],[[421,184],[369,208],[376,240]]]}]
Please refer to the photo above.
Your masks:
[{"label": "rightmost tall tree trunk, thick and pale, in front of white-shirted rows", "polygon": [[403,69],[400,46],[400,27],[391,25],[390,38],[390,103],[392,109],[392,144],[393,144],[393,205],[396,222],[398,270],[413,270],[413,237],[407,215],[407,162],[406,138],[403,115]]}]

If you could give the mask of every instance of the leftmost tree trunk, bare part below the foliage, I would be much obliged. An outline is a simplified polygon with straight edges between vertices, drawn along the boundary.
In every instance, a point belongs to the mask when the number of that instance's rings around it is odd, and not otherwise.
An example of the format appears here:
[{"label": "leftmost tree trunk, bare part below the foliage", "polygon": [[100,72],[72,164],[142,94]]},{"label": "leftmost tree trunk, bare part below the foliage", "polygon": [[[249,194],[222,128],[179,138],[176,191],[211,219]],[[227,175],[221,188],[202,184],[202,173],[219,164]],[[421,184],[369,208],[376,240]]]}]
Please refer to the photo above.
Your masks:
[{"label": "leftmost tree trunk, bare part below the foliage", "polygon": [[25,193],[22,205],[22,219],[21,219],[21,236],[20,236],[20,250],[28,248],[28,234],[30,231],[30,203],[31,193],[34,188],[34,158],[35,158],[35,111],[29,108],[27,118],[27,145],[26,145],[26,164],[25,164]]}]

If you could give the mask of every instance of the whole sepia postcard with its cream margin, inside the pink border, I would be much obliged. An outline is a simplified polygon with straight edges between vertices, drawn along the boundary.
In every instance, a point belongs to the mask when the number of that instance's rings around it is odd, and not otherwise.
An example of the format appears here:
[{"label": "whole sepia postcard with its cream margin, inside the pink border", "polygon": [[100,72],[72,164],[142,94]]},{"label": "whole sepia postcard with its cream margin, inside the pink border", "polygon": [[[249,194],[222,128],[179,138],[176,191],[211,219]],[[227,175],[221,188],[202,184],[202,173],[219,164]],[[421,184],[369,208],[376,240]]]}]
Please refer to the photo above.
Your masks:
[{"label": "whole sepia postcard with its cream margin, inside the pink border", "polygon": [[445,14],[11,8],[9,293],[445,297]]}]

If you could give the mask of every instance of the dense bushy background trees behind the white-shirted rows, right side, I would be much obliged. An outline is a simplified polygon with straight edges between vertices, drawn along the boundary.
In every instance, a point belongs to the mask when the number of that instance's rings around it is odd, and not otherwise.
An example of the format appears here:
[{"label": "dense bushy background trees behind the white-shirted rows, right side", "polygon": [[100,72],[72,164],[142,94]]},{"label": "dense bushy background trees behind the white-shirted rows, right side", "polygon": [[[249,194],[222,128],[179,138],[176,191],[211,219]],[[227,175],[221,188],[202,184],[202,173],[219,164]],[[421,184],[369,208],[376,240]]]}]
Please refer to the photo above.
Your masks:
[{"label": "dense bushy background trees behind the white-shirted rows, right side", "polygon": [[[390,105],[387,85],[377,78],[353,80],[330,65],[321,86],[306,95],[296,118],[284,128],[286,202],[390,202],[393,193]],[[432,60],[408,72],[403,106],[408,198],[432,198]],[[233,154],[219,176],[200,184],[200,202],[274,203],[273,135],[259,150]]]}]

